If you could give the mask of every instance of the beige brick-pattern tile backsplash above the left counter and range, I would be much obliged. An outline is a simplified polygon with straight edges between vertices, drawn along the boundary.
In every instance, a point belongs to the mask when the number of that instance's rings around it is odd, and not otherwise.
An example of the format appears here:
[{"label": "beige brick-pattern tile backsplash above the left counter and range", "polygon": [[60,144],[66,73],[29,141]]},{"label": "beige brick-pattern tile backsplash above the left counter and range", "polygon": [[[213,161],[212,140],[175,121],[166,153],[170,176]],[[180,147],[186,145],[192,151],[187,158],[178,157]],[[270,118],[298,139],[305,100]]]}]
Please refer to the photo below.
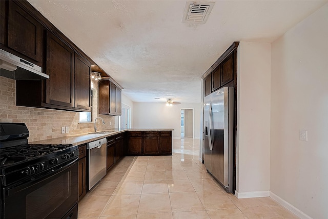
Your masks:
[{"label": "beige brick-pattern tile backsplash above the left counter and range", "polygon": [[[30,131],[29,142],[93,131],[93,123],[79,123],[78,112],[16,106],[15,80],[0,76],[0,82],[0,122],[25,123]],[[97,84],[93,87],[93,91],[97,92]],[[97,103],[97,99],[93,99],[93,103]],[[93,111],[98,111],[97,104],[93,104]],[[100,116],[105,125],[97,123],[98,130],[114,128],[114,116]],[[66,126],[69,133],[61,134],[61,127]]]}]

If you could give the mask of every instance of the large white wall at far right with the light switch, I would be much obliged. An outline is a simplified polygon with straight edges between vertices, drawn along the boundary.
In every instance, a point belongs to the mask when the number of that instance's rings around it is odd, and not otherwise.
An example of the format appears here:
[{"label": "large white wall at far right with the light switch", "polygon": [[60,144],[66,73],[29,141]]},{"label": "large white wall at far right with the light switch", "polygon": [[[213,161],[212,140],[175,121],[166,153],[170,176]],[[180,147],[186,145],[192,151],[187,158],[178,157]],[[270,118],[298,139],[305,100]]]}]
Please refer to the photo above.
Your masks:
[{"label": "large white wall at far right with the light switch", "polygon": [[327,39],[328,4],[271,47],[271,192],[313,218],[328,218]]}]

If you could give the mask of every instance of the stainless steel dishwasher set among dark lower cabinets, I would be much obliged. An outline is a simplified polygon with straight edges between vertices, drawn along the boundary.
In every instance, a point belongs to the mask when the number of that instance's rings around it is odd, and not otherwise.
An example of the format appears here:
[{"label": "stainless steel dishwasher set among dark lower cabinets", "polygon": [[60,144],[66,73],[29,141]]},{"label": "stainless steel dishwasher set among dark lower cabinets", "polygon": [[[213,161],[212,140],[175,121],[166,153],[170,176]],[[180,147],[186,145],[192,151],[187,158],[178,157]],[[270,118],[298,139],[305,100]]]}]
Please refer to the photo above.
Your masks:
[{"label": "stainless steel dishwasher set among dark lower cabinets", "polygon": [[90,142],[89,152],[89,190],[106,175],[106,137]]}]

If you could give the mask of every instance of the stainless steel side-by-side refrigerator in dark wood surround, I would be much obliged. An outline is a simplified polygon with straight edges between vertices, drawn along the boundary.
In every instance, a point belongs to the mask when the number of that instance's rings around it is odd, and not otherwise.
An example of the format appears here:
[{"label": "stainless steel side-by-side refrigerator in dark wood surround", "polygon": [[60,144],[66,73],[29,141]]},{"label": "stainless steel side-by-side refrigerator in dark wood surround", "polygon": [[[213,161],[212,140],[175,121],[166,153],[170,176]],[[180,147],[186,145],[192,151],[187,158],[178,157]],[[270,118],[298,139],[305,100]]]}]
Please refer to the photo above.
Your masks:
[{"label": "stainless steel side-by-side refrigerator in dark wood surround", "polygon": [[227,192],[233,192],[233,109],[232,87],[204,97],[204,165]]}]

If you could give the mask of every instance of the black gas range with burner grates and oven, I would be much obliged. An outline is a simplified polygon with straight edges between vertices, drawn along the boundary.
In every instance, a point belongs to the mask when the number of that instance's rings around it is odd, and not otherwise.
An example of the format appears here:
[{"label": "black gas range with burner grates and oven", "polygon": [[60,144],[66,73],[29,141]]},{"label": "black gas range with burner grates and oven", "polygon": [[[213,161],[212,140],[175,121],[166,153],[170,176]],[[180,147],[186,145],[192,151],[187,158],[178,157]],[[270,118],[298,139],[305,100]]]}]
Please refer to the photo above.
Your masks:
[{"label": "black gas range with burner grates and oven", "polygon": [[1,218],[77,218],[77,146],[28,144],[24,123],[0,129]]}]

